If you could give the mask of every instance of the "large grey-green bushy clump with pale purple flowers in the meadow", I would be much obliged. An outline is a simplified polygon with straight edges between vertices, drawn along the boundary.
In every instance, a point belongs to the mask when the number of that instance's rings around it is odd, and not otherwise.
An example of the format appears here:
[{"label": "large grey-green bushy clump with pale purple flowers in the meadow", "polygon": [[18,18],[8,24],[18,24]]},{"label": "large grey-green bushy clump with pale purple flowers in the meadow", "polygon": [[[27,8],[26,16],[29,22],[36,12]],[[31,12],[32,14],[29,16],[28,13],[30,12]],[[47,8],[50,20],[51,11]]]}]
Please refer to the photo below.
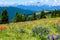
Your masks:
[{"label": "large grey-green bushy clump with pale purple flowers in the meadow", "polygon": [[34,27],[32,29],[32,33],[33,33],[33,36],[41,36],[41,35],[48,35],[49,33],[49,29],[48,28],[43,28],[43,27]]}]

